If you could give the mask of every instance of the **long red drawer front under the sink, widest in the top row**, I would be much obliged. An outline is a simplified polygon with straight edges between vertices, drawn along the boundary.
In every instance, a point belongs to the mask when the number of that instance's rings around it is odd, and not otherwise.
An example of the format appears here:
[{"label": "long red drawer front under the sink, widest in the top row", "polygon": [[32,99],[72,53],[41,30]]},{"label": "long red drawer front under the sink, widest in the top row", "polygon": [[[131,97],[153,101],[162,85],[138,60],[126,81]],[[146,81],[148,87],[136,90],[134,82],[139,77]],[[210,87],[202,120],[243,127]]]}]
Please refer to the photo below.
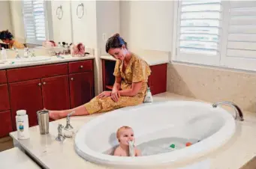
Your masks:
[{"label": "long red drawer front under the sink, widest in the top row", "polygon": [[68,64],[48,64],[35,67],[23,67],[7,70],[8,82],[20,82],[31,79],[41,79],[50,76],[65,75]]}]

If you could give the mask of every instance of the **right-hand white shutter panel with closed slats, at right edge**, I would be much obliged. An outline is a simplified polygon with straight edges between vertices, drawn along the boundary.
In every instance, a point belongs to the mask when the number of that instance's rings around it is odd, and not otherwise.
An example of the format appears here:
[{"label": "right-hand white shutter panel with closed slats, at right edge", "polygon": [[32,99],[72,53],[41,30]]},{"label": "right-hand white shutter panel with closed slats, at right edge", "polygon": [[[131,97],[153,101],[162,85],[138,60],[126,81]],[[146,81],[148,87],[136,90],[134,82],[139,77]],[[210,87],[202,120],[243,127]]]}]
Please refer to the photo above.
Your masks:
[{"label": "right-hand white shutter panel with closed slats, at right edge", "polygon": [[245,70],[256,70],[256,1],[229,1],[224,19],[225,52],[221,64]]}]

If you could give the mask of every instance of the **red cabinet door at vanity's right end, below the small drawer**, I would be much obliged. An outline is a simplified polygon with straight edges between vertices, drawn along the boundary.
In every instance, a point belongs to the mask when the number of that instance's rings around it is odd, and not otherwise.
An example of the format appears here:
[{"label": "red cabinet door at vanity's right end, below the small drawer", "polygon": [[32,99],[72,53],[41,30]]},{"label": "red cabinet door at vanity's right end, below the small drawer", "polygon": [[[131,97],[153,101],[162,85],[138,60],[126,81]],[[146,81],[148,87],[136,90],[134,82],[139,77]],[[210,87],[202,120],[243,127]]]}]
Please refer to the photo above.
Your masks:
[{"label": "red cabinet door at vanity's right end, below the small drawer", "polygon": [[89,102],[95,96],[93,72],[69,75],[71,108]]}]

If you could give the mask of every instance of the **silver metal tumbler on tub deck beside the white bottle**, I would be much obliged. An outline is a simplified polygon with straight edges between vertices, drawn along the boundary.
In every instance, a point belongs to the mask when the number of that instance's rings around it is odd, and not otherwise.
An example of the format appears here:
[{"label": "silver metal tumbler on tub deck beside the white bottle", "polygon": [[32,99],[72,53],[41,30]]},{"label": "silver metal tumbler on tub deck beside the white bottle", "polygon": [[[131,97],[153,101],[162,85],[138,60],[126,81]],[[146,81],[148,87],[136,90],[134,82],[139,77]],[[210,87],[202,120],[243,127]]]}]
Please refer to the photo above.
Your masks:
[{"label": "silver metal tumbler on tub deck beside the white bottle", "polygon": [[37,111],[38,125],[41,135],[47,135],[49,133],[49,111],[41,110]]}]

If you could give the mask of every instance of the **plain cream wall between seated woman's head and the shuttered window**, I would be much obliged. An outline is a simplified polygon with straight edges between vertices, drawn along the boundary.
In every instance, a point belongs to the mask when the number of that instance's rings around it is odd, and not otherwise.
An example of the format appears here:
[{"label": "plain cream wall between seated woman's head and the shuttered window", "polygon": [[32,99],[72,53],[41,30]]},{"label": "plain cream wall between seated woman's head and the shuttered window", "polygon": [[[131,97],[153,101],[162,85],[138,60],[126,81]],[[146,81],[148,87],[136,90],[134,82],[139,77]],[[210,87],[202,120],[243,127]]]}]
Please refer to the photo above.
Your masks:
[{"label": "plain cream wall between seated woman's head and the shuttered window", "polygon": [[131,49],[171,51],[173,1],[120,1],[121,34]]}]

